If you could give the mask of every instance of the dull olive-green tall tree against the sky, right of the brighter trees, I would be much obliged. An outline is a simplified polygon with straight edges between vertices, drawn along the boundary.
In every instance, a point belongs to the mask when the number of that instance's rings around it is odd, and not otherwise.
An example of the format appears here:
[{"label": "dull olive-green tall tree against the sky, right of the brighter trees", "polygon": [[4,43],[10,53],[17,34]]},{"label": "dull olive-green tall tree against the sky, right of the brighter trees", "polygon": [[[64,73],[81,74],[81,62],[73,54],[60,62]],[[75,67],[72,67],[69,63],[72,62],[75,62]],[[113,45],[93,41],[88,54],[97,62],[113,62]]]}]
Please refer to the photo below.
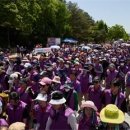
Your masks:
[{"label": "dull olive-green tall tree against the sky, right of the brighter trees", "polygon": [[76,3],[69,2],[67,4],[69,11],[71,12],[70,36],[78,38],[80,40],[88,41],[88,34],[90,28],[94,25],[94,20],[89,16],[87,12],[80,9]]}]

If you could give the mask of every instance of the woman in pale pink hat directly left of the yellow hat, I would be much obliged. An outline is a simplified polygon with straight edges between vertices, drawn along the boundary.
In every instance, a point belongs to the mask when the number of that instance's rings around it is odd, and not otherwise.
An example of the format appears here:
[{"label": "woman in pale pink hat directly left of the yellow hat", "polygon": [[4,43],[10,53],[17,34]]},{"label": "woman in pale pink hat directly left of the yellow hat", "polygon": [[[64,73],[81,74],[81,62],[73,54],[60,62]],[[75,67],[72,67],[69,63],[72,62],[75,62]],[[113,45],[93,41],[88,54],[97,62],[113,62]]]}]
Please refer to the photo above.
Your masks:
[{"label": "woman in pale pink hat directly left of the yellow hat", "polygon": [[98,126],[97,107],[92,101],[82,102],[78,116],[78,130],[96,130]]}]

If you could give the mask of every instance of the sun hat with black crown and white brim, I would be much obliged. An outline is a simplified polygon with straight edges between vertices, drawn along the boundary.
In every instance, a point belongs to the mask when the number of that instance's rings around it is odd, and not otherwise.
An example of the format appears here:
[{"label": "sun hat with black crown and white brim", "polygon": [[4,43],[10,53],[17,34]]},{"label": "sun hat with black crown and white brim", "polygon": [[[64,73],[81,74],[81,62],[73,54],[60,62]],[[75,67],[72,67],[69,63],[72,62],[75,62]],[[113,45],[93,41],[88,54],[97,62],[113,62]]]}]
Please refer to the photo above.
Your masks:
[{"label": "sun hat with black crown and white brim", "polygon": [[64,104],[66,102],[66,99],[63,96],[63,93],[60,91],[54,91],[51,94],[51,100],[50,100],[50,104],[52,105],[60,105],[60,104]]}]

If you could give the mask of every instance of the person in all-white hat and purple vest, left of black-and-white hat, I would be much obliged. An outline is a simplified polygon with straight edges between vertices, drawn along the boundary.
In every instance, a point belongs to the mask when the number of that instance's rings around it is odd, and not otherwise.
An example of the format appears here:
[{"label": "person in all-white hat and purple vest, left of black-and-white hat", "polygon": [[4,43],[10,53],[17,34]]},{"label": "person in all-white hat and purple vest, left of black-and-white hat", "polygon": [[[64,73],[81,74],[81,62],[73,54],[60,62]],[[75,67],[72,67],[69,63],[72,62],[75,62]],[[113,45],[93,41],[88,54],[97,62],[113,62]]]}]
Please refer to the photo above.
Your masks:
[{"label": "person in all-white hat and purple vest, left of black-and-white hat", "polygon": [[49,110],[50,105],[47,103],[47,94],[39,93],[35,99],[38,101],[33,107],[33,114],[34,114],[34,129],[36,130],[45,130],[46,122],[49,117]]}]

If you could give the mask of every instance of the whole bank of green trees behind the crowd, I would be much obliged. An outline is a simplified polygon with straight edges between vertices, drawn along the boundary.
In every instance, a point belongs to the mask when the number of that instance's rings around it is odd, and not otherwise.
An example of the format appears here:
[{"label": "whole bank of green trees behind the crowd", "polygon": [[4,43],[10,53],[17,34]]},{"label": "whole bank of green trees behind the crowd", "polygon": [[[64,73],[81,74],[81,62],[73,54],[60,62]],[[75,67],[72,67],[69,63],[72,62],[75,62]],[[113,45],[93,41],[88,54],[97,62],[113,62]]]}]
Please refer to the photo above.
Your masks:
[{"label": "whole bank of green trees behind the crowd", "polygon": [[129,38],[123,26],[108,27],[103,20],[95,21],[76,3],[65,0],[0,1],[0,19],[0,44],[5,46],[46,43],[47,37],[96,43]]}]

